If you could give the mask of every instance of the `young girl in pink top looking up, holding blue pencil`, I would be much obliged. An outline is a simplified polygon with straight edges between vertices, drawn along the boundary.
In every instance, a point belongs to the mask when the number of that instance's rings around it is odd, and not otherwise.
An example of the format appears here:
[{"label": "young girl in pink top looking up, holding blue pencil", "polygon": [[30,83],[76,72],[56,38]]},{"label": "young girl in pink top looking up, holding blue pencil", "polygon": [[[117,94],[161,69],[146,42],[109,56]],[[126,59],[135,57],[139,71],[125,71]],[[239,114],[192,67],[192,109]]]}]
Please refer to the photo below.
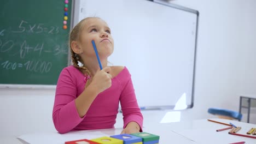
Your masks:
[{"label": "young girl in pink top looking up, holding blue pencil", "polygon": [[129,71],[126,67],[107,66],[114,49],[110,33],[107,23],[97,17],[83,19],[73,28],[69,39],[73,65],[60,73],[53,107],[53,122],[59,133],[114,128],[119,101],[124,116],[122,134],[142,131],[143,116]]}]

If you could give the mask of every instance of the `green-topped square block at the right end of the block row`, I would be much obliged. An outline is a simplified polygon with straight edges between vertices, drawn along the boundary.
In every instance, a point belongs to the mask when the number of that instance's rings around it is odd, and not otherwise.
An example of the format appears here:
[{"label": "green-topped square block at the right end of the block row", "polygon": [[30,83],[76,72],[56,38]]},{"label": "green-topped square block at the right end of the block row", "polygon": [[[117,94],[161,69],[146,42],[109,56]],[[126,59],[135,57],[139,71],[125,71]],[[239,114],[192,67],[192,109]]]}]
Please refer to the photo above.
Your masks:
[{"label": "green-topped square block at the right end of the block row", "polygon": [[141,137],[143,144],[155,144],[155,143],[159,143],[159,138],[160,136],[158,135],[153,135],[153,134],[149,134],[146,132],[142,132],[142,133],[135,133],[135,134],[131,134],[137,137]]}]

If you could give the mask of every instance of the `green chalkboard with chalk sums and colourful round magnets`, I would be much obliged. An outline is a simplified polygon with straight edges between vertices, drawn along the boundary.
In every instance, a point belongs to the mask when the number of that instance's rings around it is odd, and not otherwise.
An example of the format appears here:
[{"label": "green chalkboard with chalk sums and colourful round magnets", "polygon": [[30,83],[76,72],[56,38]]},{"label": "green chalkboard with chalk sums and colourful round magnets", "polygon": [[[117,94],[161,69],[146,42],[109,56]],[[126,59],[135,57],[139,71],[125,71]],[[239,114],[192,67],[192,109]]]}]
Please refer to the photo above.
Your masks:
[{"label": "green chalkboard with chalk sums and colourful round magnets", "polygon": [[0,83],[56,85],[68,65],[71,9],[71,0],[1,1]]}]

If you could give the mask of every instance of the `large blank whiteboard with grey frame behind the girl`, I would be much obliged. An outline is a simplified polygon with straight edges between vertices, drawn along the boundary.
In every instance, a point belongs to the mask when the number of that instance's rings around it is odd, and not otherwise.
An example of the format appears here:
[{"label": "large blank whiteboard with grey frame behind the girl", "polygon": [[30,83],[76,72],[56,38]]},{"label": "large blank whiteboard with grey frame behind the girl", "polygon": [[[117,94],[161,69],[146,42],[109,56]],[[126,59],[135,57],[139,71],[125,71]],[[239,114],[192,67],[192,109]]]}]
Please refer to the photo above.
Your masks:
[{"label": "large blank whiteboard with grey frame behind the girl", "polygon": [[174,107],[180,100],[192,107],[198,11],[158,2],[83,0],[79,21],[96,16],[108,23],[108,60],[129,69],[139,106]]}]

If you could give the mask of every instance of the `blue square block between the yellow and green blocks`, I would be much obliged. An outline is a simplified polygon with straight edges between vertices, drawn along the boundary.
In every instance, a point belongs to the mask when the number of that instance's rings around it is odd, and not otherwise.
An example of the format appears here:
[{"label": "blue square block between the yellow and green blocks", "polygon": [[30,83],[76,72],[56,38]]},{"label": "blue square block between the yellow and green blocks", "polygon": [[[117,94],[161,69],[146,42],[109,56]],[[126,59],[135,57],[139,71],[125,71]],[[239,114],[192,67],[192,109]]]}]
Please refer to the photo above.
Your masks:
[{"label": "blue square block between the yellow and green blocks", "polygon": [[124,144],[142,144],[142,138],[129,134],[112,135],[115,139],[123,140]]}]

